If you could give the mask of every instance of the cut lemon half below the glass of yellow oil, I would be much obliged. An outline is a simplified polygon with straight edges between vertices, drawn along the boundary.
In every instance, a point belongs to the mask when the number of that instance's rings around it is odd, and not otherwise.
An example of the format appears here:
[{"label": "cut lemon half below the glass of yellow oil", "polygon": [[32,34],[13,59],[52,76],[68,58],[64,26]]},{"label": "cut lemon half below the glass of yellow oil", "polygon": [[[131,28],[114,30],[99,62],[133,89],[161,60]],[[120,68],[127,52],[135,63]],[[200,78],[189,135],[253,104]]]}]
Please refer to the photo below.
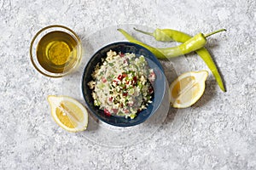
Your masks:
[{"label": "cut lemon half below the glass of yellow oil", "polygon": [[88,112],[79,101],[67,96],[49,95],[48,102],[51,116],[55,122],[69,132],[79,132],[86,129]]}]

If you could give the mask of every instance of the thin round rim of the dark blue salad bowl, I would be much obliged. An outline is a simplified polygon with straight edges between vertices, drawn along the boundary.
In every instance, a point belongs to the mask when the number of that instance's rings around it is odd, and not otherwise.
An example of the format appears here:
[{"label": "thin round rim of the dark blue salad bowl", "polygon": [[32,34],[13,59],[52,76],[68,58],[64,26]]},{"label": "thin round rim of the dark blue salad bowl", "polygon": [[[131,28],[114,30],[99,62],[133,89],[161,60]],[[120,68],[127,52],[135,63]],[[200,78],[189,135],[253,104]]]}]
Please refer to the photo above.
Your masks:
[{"label": "thin round rim of the dark blue salad bowl", "polygon": [[[132,126],[136,126],[136,125],[139,125],[143,122],[145,122],[146,120],[148,120],[148,118],[152,115],[154,115],[154,113],[159,109],[161,103],[162,103],[162,100],[164,99],[164,96],[165,96],[165,93],[161,96],[160,98],[160,105],[158,105],[155,109],[154,109],[154,112],[151,111],[149,116],[145,119],[143,119],[142,121],[139,121],[139,122],[133,122],[133,123],[128,123],[128,124],[122,124],[122,125],[119,125],[119,124],[115,124],[115,123],[112,123],[112,122],[106,122],[104,119],[102,119],[101,116],[99,116],[97,113],[95,113],[92,108],[90,108],[90,105],[87,104],[87,100],[85,99],[85,94],[84,94],[84,76],[85,76],[85,73],[86,73],[86,68],[87,66],[89,65],[90,61],[93,59],[93,57],[98,54],[100,51],[102,51],[104,48],[108,48],[109,46],[112,46],[112,45],[115,45],[115,44],[121,44],[121,43],[125,43],[126,44],[129,44],[129,45],[132,45],[132,46],[137,46],[139,48],[143,48],[144,50],[146,50],[148,52],[148,54],[151,54],[152,56],[154,56],[155,60],[158,62],[159,65],[157,65],[159,68],[160,68],[160,71],[163,72],[163,75],[165,76],[165,73],[164,73],[164,69],[163,69],[163,66],[160,64],[160,61],[156,58],[156,56],[151,52],[149,51],[147,48],[144,48],[143,46],[137,44],[137,43],[134,43],[134,42],[125,42],[125,41],[119,41],[119,42],[112,42],[112,43],[108,43],[107,45],[104,45],[102,46],[102,48],[99,48],[98,50],[96,50],[96,52],[94,54],[91,55],[90,59],[87,61],[86,65],[84,66],[84,71],[83,71],[83,75],[82,75],[82,79],[81,79],[81,90],[82,90],[82,94],[83,94],[83,98],[84,98],[84,103],[86,105],[86,107],[89,109],[90,113],[93,115],[93,116],[96,116],[97,119],[99,119],[100,121],[102,122],[105,122],[109,125],[113,125],[115,127],[132,127]],[[155,63],[155,62],[154,62]],[[166,91],[166,80],[163,82],[164,83],[164,90]],[[90,115],[91,115],[90,114]],[[120,118],[122,118],[120,116]],[[125,117],[124,117],[125,118]]]}]

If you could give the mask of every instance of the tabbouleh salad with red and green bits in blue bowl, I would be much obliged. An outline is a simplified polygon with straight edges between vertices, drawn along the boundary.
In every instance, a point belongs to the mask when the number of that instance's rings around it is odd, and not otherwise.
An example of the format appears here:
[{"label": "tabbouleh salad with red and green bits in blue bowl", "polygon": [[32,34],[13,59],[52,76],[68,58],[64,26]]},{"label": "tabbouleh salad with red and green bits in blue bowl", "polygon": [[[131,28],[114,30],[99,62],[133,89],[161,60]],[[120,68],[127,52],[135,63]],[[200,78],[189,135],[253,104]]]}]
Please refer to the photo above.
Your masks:
[{"label": "tabbouleh salad with red and green bits in blue bowl", "polygon": [[94,105],[108,116],[133,119],[152,102],[155,74],[143,55],[110,50],[91,76],[88,86],[93,91]]}]

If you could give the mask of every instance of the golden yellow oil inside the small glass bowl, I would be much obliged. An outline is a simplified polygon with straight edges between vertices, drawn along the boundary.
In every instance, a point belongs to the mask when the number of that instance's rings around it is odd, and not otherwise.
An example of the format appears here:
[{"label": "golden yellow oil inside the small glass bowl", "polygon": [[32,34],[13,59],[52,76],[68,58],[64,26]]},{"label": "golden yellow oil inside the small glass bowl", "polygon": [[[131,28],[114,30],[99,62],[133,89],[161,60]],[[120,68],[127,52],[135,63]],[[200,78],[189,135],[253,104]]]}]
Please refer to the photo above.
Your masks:
[{"label": "golden yellow oil inside the small glass bowl", "polygon": [[49,32],[38,42],[38,62],[52,73],[69,71],[78,59],[77,46],[78,42],[66,32]]}]

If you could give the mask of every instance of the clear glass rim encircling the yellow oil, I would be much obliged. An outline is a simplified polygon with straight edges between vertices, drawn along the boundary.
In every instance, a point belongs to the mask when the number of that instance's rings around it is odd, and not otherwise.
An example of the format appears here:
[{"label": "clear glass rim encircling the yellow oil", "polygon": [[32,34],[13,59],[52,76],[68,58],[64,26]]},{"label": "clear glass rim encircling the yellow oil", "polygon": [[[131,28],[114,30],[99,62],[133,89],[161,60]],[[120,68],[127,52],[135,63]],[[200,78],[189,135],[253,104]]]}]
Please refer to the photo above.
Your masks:
[{"label": "clear glass rim encircling the yellow oil", "polygon": [[[66,32],[67,34],[69,34],[69,35],[71,35],[72,37],[73,37],[73,39],[76,41],[76,42],[78,42],[78,44],[77,44],[77,47],[78,47],[78,59],[77,59],[77,61],[76,61],[76,63],[75,63],[75,65],[73,66],[73,68],[71,68],[70,70],[68,70],[68,71],[63,71],[63,72],[61,72],[61,73],[52,73],[52,72],[50,72],[50,71],[46,71],[44,68],[44,71],[42,71],[42,69],[40,69],[40,67],[38,67],[38,65],[37,65],[37,62],[35,61],[35,59],[34,59],[34,57],[37,57],[37,56],[34,56],[34,54],[33,54],[33,48],[34,48],[34,45],[38,45],[38,44],[35,44],[35,42],[36,42],[36,40],[37,40],[37,38],[41,35],[41,33],[43,33],[44,31],[48,31],[49,29],[52,29],[52,28],[56,28],[56,29],[58,29],[58,28],[60,28],[60,29],[62,29],[62,31],[63,30],[66,30],[66,31],[68,31],[68,32]],[[55,31],[55,30],[52,30],[52,31]],[[49,31],[49,32],[51,32],[51,31]],[[48,33],[49,33],[48,32]],[[45,35],[47,35],[48,33],[46,33]],[[44,35],[44,36],[45,36]],[[43,37],[44,37],[43,36]],[[42,38],[42,37],[41,37]],[[41,38],[40,38],[40,40],[41,40]],[[39,41],[40,41],[39,40]],[[37,47],[36,47],[37,48]],[[64,77],[64,76],[66,76],[67,74],[69,74],[71,71],[73,71],[74,70],[74,68],[75,67],[77,67],[78,65],[79,65],[79,62],[80,62],[80,60],[81,60],[81,58],[82,58],[82,44],[81,44],[81,40],[80,40],[80,38],[79,38],[79,36],[72,30],[72,29],[70,29],[70,28],[68,28],[67,26],[61,26],[61,25],[50,25],[50,26],[45,26],[44,28],[42,28],[42,29],[40,29],[35,35],[34,35],[34,37],[32,37],[32,42],[30,43],[30,60],[31,60],[31,62],[32,62],[32,65],[34,66],[34,68],[38,71],[38,72],[40,72],[41,74],[43,74],[44,76],[46,76],[46,77],[52,77],[52,78],[58,78],[58,77]],[[41,66],[42,67],[42,66]],[[64,69],[65,70],[65,69]]]}]

